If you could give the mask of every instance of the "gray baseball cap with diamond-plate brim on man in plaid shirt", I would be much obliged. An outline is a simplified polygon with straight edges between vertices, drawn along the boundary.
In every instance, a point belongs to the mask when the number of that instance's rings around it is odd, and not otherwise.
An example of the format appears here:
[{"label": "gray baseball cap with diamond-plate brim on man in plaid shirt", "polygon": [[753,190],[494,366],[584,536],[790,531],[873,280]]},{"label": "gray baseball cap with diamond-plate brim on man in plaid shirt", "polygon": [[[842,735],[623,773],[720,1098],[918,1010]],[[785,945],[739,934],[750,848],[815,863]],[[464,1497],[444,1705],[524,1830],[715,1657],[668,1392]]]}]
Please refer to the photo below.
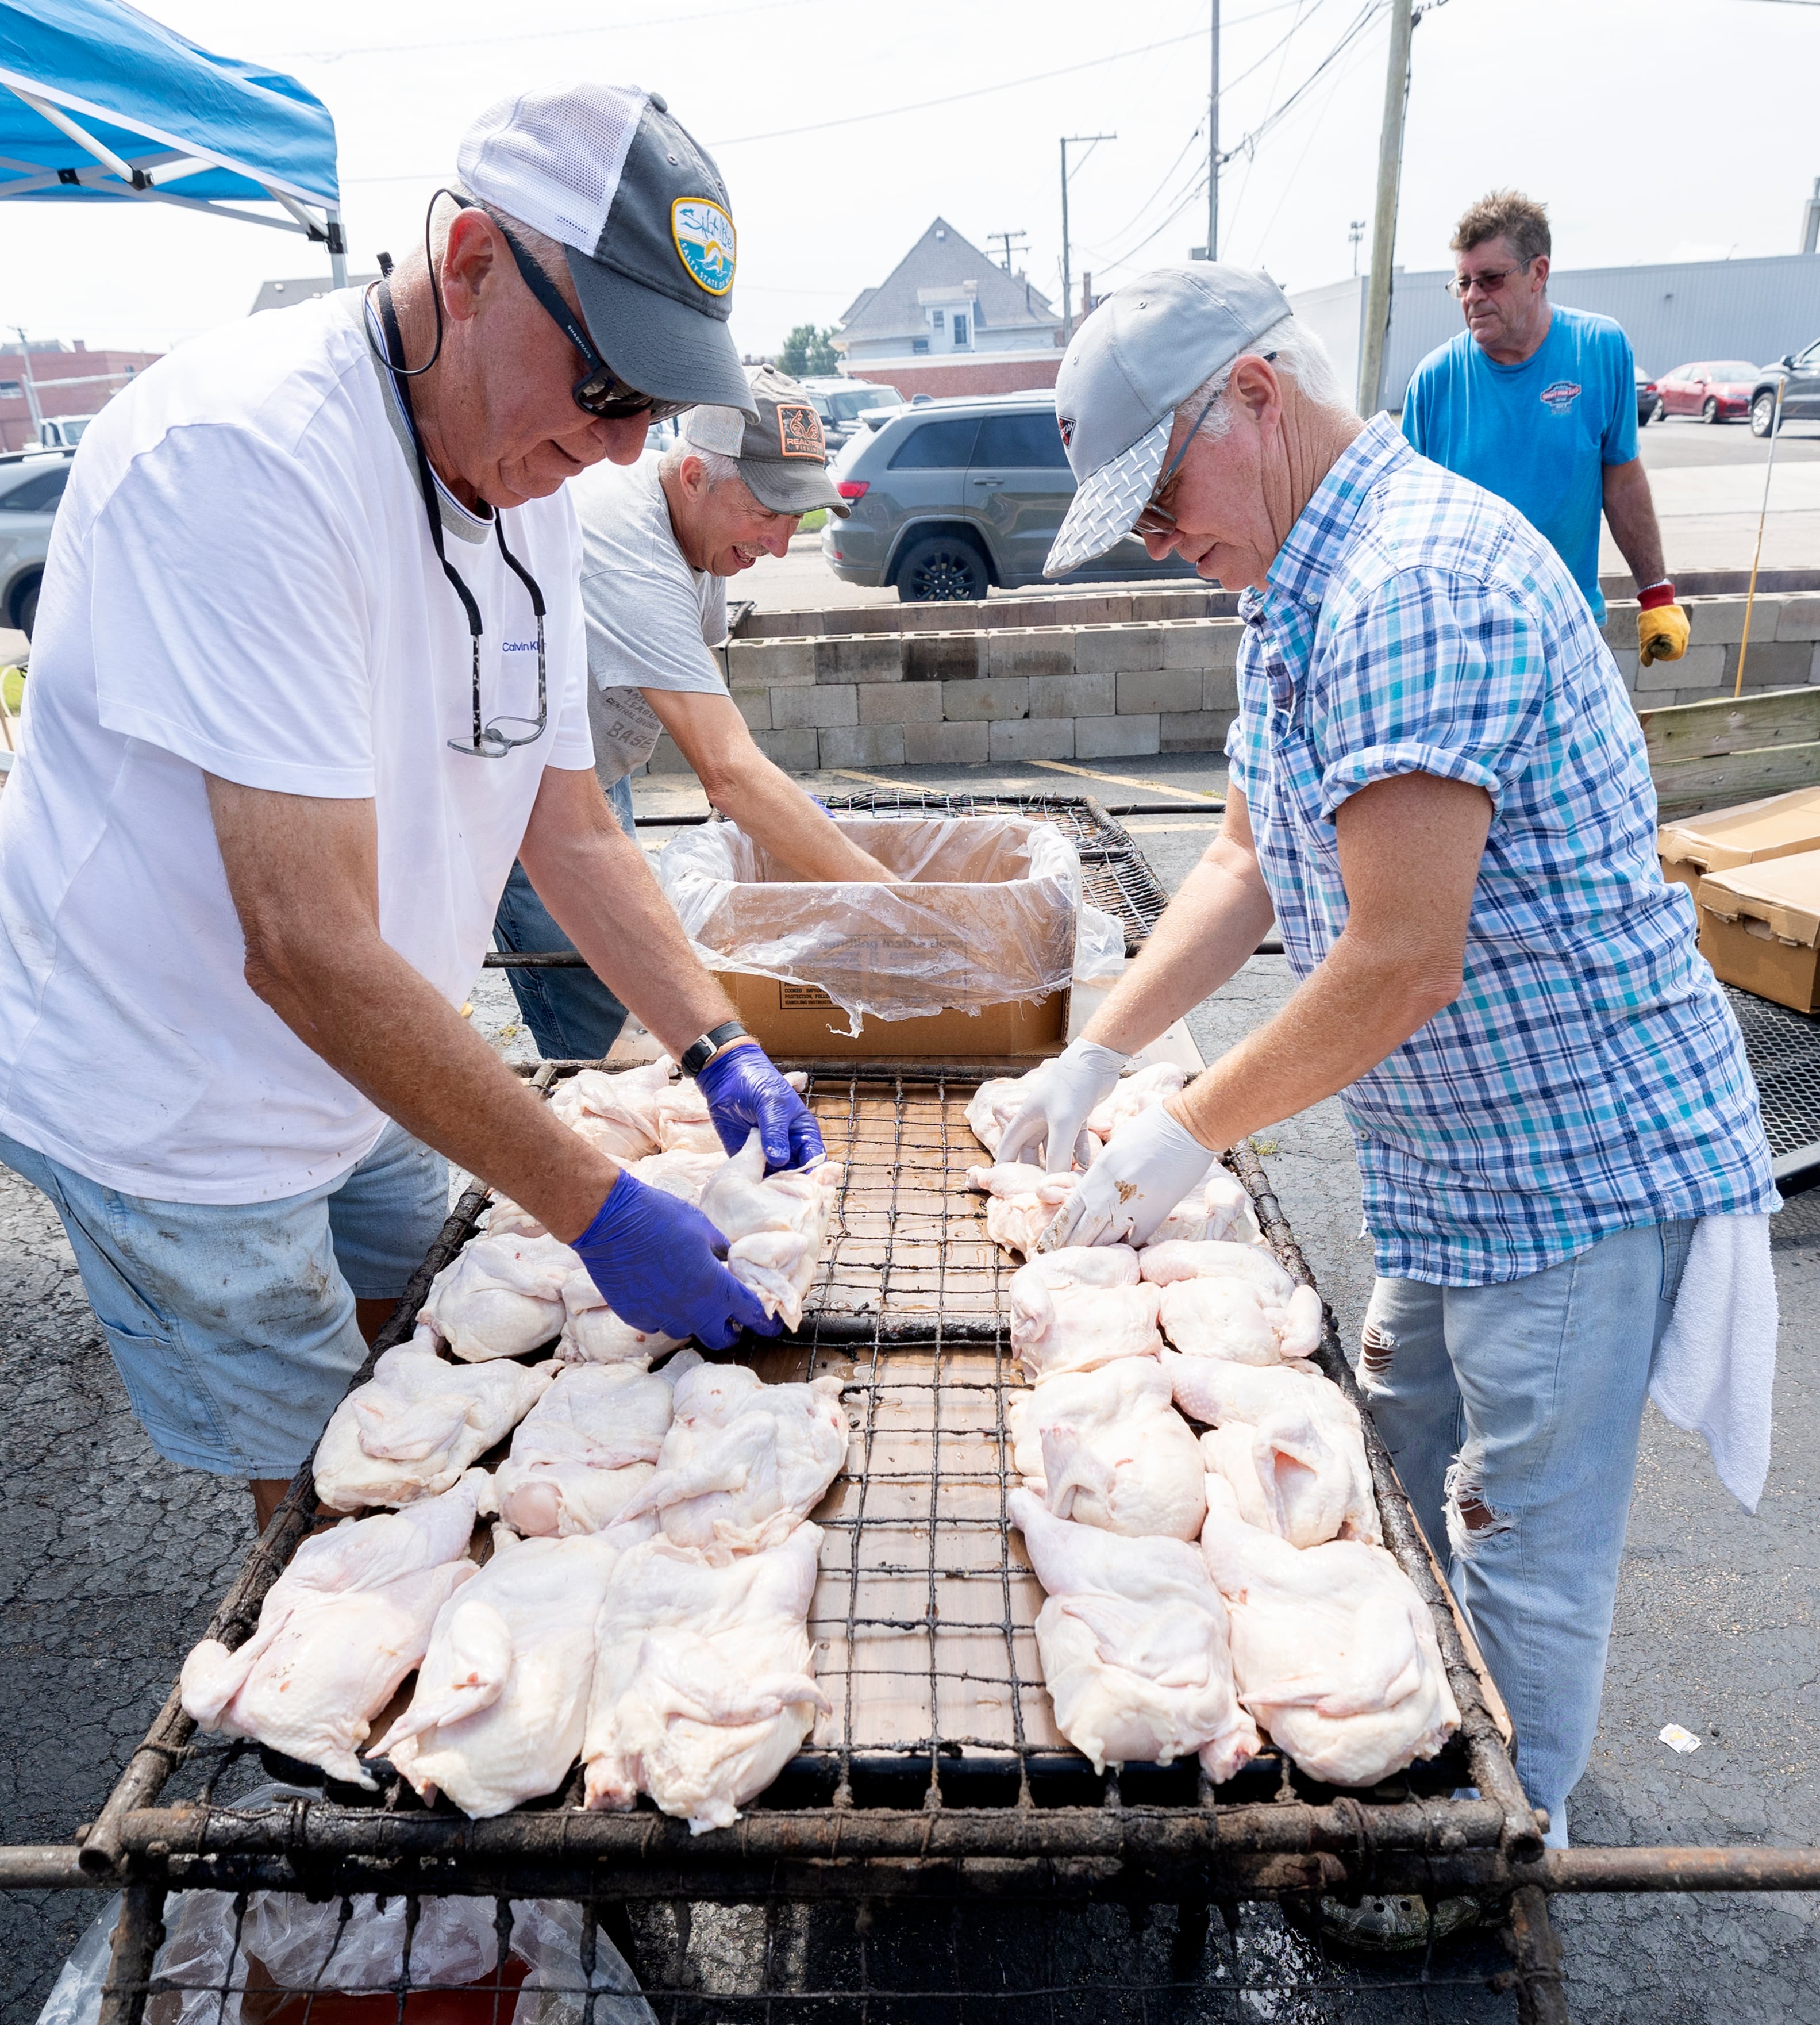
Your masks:
[{"label": "gray baseball cap with diamond-plate brim on man in plaid shirt", "polygon": [[1055,375],[1075,498],[1045,577],[1065,577],[1132,533],[1176,409],[1286,316],[1290,298],[1267,273],[1219,261],[1156,267],[1099,304]]}]

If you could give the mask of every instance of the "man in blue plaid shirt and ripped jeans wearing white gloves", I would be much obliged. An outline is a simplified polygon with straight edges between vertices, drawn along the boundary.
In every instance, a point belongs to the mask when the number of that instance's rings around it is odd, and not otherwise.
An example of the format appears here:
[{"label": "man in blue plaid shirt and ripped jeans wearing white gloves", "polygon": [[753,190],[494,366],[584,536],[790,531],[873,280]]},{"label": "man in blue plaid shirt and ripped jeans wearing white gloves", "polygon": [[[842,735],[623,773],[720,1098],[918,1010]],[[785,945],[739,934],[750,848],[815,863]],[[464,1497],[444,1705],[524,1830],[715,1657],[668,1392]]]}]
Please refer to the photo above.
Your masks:
[{"label": "man in blue plaid shirt and ripped jeans wearing white gloves", "polygon": [[1281,923],[1296,994],[1113,1136],[1045,1247],[1142,1243],[1213,1150],[1342,1094],[1381,1276],[1360,1379],[1565,1843],[1692,1231],[1777,1207],[1640,727],[1549,543],[1362,423],[1267,277],[1120,290],[1057,415],[1081,484],[1049,573],[1136,529],[1247,585],[1247,630],[1223,832],[998,1158],[1065,1166],[1126,1057]]}]

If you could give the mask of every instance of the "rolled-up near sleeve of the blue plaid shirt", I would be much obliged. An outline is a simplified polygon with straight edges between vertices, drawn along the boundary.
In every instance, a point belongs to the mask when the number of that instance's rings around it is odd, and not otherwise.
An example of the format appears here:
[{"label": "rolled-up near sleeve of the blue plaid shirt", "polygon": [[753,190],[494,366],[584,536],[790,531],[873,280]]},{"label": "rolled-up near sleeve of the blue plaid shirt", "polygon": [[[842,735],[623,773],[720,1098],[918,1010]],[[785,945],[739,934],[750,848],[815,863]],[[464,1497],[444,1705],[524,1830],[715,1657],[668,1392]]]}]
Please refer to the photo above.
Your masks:
[{"label": "rolled-up near sleeve of the blue plaid shirt", "polygon": [[1543,636],[1508,591],[1407,569],[1344,614],[1316,656],[1308,729],[1320,814],[1399,774],[1484,788],[1492,812],[1543,725]]}]

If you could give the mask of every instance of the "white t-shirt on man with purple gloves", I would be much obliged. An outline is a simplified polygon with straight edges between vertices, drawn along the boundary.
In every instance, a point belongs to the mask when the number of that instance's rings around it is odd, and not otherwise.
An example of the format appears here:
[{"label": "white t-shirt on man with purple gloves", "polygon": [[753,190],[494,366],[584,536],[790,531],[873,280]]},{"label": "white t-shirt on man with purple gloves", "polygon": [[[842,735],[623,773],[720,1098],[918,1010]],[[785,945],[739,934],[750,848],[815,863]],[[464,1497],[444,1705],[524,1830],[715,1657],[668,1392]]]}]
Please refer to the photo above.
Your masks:
[{"label": "white t-shirt on man with purple gloves", "polygon": [[[451,1004],[547,767],[593,763],[581,543],[557,492],[500,514],[543,589],[547,725],[478,759],[468,622],[346,290],[160,358],[83,435],[0,796],[0,1130],[103,1187],[263,1203],[385,1118],[245,980],[206,778],[370,800],[379,929]],[[539,715],[530,593],[441,498],[488,721]]]}]

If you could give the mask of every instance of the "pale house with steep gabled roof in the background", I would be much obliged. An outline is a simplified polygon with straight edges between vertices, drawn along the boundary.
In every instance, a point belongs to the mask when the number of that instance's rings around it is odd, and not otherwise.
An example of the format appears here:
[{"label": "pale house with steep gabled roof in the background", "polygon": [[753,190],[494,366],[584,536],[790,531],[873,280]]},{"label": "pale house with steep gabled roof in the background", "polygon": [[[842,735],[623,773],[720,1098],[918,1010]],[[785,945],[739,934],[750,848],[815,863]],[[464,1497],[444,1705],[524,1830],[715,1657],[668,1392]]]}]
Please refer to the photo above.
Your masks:
[{"label": "pale house with steep gabled roof in the background", "polygon": [[834,332],[840,371],[915,393],[1016,393],[1053,387],[1061,316],[1022,273],[1008,273],[935,219],[879,288],[862,288]]}]

